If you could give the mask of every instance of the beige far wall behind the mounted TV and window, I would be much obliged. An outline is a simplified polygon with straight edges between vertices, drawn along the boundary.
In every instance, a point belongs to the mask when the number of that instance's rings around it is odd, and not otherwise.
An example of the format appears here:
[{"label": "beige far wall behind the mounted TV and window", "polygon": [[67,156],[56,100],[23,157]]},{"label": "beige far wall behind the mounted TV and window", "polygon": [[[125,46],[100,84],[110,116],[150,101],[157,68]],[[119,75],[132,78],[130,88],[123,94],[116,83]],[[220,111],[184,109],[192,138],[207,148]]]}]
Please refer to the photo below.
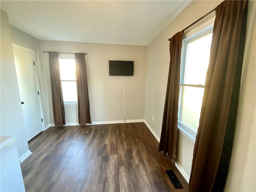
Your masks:
[{"label": "beige far wall behind the mounted TV and window", "polygon": [[[87,52],[86,66],[93,122],[124,120],[124,77],[109,76],[108,60],[134,61],[134,76],[126,77],[126,120],[144,119],[146,46],[40,40],[44,105],[53,123],[48,54],[42,51]],[[66,123],[78,122],[77,106],[65,106]]]}]

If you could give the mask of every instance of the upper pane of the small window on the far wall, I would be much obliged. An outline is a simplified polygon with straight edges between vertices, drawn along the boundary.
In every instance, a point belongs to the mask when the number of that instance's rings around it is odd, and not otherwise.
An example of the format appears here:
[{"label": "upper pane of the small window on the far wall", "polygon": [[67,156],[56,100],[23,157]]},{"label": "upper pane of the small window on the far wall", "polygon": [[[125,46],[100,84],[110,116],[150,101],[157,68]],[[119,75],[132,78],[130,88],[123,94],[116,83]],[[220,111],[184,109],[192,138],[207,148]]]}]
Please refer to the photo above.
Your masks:
[{"label": "upper pane of the small window on the far wall", "polygon": [[59,59],[60,79],[76,80],[76,64],[74,59]]}]

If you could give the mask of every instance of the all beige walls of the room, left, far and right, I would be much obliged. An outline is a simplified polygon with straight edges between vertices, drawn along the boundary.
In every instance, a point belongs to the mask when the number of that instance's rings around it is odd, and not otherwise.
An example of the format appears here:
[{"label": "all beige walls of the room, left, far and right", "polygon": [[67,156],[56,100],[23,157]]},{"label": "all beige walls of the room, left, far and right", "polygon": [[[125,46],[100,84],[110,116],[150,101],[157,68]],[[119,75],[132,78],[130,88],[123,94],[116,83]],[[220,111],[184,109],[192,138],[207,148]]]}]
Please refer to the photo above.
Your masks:
[{"label": "all beige walls of the room, left, far and right", "polygon": [[[126,78],[126,119],[145,118],[156,135],[160,137],[170,61],[168,38],[215,8],[220,2],[222,1],[192,2],[147,47],[40,40],[40,52],[36,50],[36,39],[31,36],[28,38],[27,34],[13,27],[11,27],[13,40],[11,40],[8,16],[1,11],[1,135],[17,135],[19,156],[28,150],[27,143],[24,142],[24,122],[11,48],[11,43],[14,42],[40,53],[38,54],[40,55],[40,62],[38,61],[38,63],[40,64],[40,74],[42,75],[40,77],[40,86],[46,125],[47,123],[53,123],[53,116],[48,54],[42,53],[42,51],[88,52],[86,62],[92,121],[123,120],[123,77],[108,76],[108,60],[134,60],[134,77]],[[254,16],[252,13],[254,13]],[[256,191],[256,29],[255,2],[253,1],[249,2],[248,15],[236,134],[226,191]],[[12,94],[9,94],[9,91]],[[65,106],[66,115],[68,115],[67,122],[77,122],[75,108],[76,106]],[[154,116],[154,121],[152,121],[152,116]],[[13,117],[16,121],[10,119]],[[186,174],[189,175],[194,143],[182,133],[178,134],[178,142],[180,144],[177,151],[177,160]]]}]

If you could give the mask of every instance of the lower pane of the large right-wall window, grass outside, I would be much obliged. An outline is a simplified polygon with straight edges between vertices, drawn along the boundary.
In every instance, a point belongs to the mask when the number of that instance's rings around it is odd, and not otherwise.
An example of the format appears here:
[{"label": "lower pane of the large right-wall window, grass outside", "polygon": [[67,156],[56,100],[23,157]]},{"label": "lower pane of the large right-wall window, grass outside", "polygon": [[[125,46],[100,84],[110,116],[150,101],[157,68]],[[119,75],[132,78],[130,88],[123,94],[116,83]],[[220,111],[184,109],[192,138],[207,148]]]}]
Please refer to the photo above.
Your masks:
[{"label": "lower pane of the large right-wall window, grass outside", "polygon": [[204,88],[189,86],[181,88],[179,121],[197,132]]}]

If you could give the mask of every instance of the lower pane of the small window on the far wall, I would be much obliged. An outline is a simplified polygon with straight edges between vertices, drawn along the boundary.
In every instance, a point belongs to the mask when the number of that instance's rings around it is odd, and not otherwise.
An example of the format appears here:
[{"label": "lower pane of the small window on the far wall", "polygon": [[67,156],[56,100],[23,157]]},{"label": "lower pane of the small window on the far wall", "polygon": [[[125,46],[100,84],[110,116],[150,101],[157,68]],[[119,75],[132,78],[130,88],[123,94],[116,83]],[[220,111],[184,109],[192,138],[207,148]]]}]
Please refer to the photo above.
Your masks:
[{"label": "lower pane of the small window on the far wall", "polygon": [[62,81],[62,94],[65,101],[77,101],[76,82],[75,81]]}]

